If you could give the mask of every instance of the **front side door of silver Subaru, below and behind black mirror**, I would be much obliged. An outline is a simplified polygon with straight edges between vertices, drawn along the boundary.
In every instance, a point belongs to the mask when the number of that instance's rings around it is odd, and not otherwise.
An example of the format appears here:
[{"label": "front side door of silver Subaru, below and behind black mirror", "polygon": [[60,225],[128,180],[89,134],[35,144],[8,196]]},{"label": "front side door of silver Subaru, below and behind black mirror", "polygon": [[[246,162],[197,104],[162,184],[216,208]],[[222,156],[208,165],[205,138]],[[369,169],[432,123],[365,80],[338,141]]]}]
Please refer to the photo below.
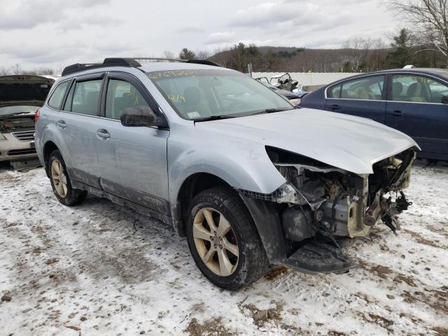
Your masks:
[{"label": "front side door of silver Subaru, below and behind black mirror", "polygon": [[97,128],[102,188],[162,214],[169,214],[167,139],[159,127],[125,127],[120,116],[133,106],[160,113],[144,85],[132,75],[109,73],[104,87],[101,125]]}]

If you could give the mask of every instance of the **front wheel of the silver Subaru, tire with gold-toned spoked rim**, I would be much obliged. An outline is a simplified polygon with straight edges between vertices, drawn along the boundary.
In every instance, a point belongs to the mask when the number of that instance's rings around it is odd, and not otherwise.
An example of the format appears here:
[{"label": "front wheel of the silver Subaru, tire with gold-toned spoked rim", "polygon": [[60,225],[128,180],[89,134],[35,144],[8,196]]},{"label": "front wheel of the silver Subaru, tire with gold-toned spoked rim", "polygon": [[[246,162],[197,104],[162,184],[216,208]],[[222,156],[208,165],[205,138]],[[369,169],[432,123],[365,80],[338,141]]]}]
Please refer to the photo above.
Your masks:
[{"label": "front wheel of the silver Subaru, tire with gold-toned spoked rim", "polygon": [[211,188],[195,196],[188,209],[186,233],[197,267],[216,286],[237,290],[267,270],[265,249],[235,190]]}]

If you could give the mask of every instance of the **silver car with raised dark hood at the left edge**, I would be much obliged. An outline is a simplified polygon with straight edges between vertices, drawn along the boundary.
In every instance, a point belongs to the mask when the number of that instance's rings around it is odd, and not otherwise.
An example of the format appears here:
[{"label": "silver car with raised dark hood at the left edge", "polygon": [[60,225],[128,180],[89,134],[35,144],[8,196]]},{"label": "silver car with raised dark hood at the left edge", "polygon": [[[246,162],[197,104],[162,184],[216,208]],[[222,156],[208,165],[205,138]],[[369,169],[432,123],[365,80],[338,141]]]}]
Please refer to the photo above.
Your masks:
[{"label": "silver car with raised dark hood at the left edge", "polygon": [[34,116],[54,81],[43,76],[0,76],[0,162],[37,158]]}]

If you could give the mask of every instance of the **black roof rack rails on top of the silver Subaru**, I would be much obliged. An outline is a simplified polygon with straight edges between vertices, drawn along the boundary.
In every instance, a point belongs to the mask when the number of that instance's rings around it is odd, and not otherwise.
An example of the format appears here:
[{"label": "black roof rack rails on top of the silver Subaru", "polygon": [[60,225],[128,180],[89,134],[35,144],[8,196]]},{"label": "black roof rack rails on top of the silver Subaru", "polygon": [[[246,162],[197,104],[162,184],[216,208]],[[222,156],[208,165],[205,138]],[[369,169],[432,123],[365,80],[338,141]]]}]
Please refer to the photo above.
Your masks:
[{"label": "black roof rack rails on top of the silver Subaru", "polygon": [[207,59],[171,59],[171,58],[158,58],[158,57],[113,57],[113,58],[105,58],[102,63],[76,63],[66,66],[62,71],[62,76],[69,75],[71,73],[76,73],[79,71],[96,69],[96,68],[104,68],[107,66],[131,66],[137,67],[141,66],[136,59],[142,60],[155,60],[155,61],[169,61],[169,62],[185,62],[185,63],[193,63],[193,64],[204,64],[211,66],[221,66],[215,62],[208,61]]}]

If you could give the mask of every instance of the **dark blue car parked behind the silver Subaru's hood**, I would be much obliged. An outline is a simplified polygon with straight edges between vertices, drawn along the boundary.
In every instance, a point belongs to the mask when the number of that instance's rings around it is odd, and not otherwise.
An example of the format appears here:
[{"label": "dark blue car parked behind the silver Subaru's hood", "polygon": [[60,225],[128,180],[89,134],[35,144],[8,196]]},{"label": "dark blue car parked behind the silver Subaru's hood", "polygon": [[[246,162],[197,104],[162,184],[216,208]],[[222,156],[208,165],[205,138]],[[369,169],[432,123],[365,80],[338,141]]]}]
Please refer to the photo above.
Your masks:
[{"label": "dark blue car parked behind the silver Subaru's hood", "polygon": [[321,87],[300,106],[376,120],[412,137],[421,158],[448,160],[448,70],[363,73]]}]

